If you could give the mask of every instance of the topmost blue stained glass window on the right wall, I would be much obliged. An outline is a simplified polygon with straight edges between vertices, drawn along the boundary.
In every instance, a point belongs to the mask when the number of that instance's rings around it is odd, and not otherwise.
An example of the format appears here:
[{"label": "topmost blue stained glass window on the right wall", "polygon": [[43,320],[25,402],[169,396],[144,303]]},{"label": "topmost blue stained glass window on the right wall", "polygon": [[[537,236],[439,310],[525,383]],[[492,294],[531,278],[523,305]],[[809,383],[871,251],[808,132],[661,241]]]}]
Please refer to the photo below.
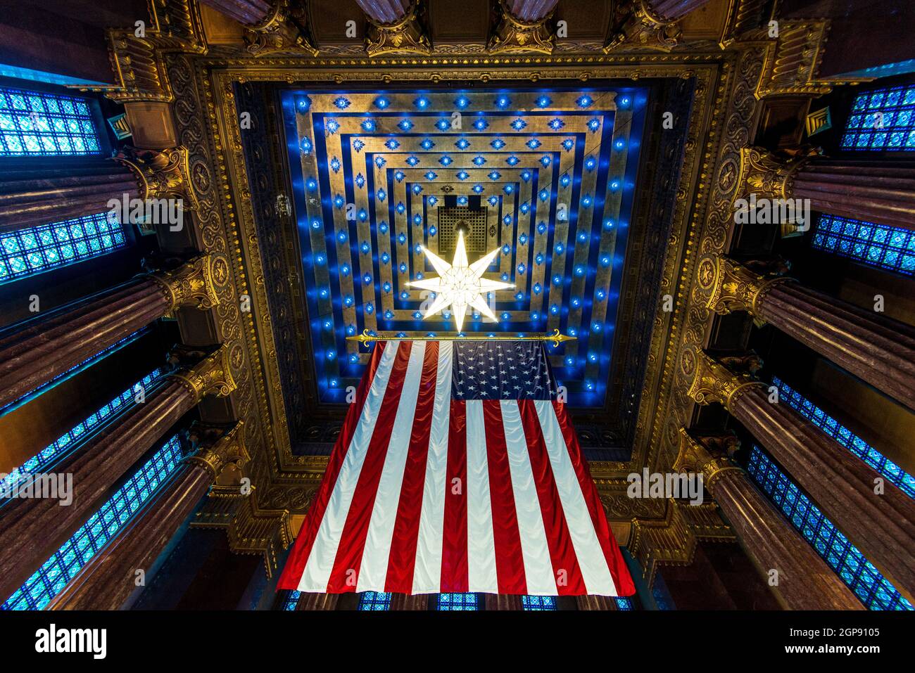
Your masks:
[{"label": "topmost blue stained glass window on the right wall", "polygon": [[846,150],[915,150],[915,84],[859,93],[845,124]]}]

